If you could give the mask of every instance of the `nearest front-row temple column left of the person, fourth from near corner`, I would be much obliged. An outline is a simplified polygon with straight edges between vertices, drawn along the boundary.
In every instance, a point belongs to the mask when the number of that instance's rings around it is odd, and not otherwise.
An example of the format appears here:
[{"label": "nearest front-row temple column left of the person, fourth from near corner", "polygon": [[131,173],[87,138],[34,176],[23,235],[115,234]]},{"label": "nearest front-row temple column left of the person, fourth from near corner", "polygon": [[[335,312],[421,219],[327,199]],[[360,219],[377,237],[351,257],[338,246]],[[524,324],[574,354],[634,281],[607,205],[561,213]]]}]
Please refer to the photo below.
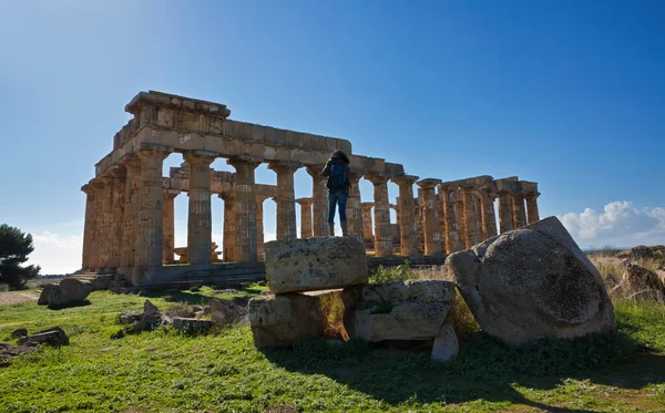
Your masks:
[{"label": "nearest front-row temple column left of the person, fourth from near corner", "polygon": [[268,165],[268,168],[277,174],[277,196],[275,197],[277,203],[277,239],[298,238],[294,173],[300,166],[300,164],[287,162],[274,162]]}]

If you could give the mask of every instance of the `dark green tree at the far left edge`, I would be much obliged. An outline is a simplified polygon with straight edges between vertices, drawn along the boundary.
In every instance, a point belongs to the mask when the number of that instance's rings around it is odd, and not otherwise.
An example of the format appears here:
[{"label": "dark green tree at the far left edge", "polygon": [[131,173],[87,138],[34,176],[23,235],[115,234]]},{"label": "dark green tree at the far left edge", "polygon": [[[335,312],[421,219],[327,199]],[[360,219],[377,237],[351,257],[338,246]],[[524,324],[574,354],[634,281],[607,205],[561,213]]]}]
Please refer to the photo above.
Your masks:
[{"label": "dark green tree at the far left edge", "polygon": [[39,266],[21,266],[33,250],[30,234],[7,224],[0,225],[0,283],[21,288],[25,280],[39,276]]}]

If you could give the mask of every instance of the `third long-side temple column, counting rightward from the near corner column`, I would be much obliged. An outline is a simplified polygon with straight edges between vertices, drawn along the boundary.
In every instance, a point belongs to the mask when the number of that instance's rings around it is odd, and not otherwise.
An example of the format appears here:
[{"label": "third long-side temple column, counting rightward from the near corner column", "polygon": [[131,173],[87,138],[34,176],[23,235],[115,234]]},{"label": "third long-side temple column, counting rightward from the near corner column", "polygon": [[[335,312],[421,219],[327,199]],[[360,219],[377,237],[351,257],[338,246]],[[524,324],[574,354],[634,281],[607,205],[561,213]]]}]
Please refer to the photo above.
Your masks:
[{"label": "third long-side temple column, counting rightward from the near corner column", "polygon": [[236,247],[237,260],[253,262],[257,260],[256,251],[256,198],[254,196],[254,171],[260,162],[237,157],[227,163],[236,169]]}]

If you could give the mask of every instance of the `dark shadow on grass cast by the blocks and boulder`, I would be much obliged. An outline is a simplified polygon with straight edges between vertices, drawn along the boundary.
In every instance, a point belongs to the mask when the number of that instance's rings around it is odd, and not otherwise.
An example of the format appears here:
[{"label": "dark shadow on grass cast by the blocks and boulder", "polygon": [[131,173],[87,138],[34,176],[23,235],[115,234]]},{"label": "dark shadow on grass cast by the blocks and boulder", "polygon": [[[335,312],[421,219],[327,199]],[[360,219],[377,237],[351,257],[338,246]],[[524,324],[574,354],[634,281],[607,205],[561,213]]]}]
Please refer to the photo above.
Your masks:
[{"label": "dark shadow on grass cast by the blocks and boulder", "polygon": [[265,351],[275,364],[325,374],[390,404],[511,402],[552,412],[587,412],[528,400],[516,385],[550,390],[565,379],[641,389],[665,379],[665,358],[647,353],[623,333],[576,340],[540,340],[511,348],[484,333],[471,334],[449,363],[429,352],[397,350],[360,341],[329,344],[307,340],[293,349]]}]

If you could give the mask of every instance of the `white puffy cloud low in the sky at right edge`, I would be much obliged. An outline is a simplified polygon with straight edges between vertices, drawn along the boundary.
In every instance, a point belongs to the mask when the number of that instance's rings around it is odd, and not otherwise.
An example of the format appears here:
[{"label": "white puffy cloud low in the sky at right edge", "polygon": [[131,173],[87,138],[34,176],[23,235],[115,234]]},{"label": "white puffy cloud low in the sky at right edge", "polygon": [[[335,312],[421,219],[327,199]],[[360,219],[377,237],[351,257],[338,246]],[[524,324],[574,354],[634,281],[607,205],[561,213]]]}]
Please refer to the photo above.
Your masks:
[{"label": "white puffy cloud low in the sky at right edge", "polygon": [[628,200],[605,205],[603,211],[592,208],[559,217],[582,247],[637,244],[665,244],[665,208],[637,208]]}]

